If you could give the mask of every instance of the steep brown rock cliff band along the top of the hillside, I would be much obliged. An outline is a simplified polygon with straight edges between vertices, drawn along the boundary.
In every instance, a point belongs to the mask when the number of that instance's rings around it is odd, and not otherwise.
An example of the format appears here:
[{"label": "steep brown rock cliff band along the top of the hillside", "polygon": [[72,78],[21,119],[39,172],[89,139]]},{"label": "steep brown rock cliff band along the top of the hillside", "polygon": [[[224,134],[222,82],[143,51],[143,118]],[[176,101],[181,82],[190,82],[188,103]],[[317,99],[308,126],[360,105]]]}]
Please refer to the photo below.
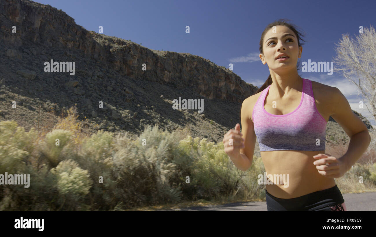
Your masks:
[{"label": "steep brown rock cliff band along the top of the hillside", "polygon": [[[8,57],[20,56],[23,48],[38,57],[41,56],[38,54],[47,54],[46,50],[39,51],[34,45],[61,49],[68,58],[72,58],[72,51],[78,50],[76,57],[96,59],[104,68],[116,70],[121,75],[173,84],[177,89],[193,87],[199,95],[208,99],[243,102],[257,90],[232,71],[205,58],[148,49],[128,40],[85,30],[65,12],[49,5],[26,0],[3,0],[0,12],[0,40],[2,45],[6,45]],[[12,26],[16,26],[17,33],[11,33]],[[143,64],[146,71],[142,70]]]}]

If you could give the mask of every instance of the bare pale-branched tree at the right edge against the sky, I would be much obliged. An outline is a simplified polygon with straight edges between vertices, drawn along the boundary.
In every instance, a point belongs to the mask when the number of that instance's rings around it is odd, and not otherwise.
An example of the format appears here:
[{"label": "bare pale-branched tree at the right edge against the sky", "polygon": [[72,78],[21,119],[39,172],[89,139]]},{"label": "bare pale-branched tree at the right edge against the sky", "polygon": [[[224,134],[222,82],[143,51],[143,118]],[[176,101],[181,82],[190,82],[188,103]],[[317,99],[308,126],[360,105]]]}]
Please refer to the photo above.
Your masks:
[{"label": "bare pale-branched tree at the right edge against the sky", "polygon": [[364,30],[363,27],[359,28],[357,42],[348,34],[342,35],[339,47],[335,48],[338,54],[333,60],[336,65],[333,71],[341,71],[347,80],[358,87],[362,100],[367,99],[363,104],[371,113],[368,118],[373,116],[376,120],[376,33],[372,26]]}]

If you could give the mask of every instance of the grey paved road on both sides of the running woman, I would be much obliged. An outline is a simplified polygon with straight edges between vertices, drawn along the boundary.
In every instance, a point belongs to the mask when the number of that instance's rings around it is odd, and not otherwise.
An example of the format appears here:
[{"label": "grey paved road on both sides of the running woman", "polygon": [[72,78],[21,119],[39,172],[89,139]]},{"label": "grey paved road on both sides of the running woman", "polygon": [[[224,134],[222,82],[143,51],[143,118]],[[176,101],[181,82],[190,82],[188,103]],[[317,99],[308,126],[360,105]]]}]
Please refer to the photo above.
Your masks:
[{"label": "grey paved road on both sides of the running woman", "polygon": [[[344,193],[347,211],[376,211],[376,192]],[[223,205],[193,206],[167,211],[266,211],[266,202],[233,202]]]}]

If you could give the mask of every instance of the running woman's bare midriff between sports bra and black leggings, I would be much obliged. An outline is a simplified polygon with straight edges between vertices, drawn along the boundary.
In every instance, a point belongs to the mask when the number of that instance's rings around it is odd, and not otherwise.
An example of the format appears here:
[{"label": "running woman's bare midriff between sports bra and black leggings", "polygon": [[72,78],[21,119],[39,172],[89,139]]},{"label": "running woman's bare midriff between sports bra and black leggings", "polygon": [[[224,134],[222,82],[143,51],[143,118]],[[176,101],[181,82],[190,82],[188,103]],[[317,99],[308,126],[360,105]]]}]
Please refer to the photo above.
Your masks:
[{"label": "running woman's bare midriff between sports bra and black leggings", "polygon": [[[325,151],[260,151],[265,172],[273,175],[288,174],[288,186],[266,184],[266,190],[277,198],[297,198],[308,193],[317,192],[335,186],[334,178],[321,175],[313,162],[314,155]],[[270,180],[274,181],[274,180]]]}]

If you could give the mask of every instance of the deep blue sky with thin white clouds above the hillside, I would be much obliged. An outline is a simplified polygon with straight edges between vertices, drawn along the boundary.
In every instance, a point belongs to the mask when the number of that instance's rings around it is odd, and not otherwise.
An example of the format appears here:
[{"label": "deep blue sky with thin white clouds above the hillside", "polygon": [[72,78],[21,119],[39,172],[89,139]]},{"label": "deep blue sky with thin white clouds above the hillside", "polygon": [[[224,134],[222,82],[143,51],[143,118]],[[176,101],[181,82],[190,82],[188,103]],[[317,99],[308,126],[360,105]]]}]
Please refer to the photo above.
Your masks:
[{"label": "deep blue sky with thin white clouds above the hillside", "polygon": [[[287,18],[305,36],[301,62],[331,62],[336,57],[343,34],[356,39],[359,26],[375,27],[376,1],[167,1],[167,0],[37,0],[61,9],[76,24],[103,34],[164,51],[187,52],[226,66],[247,83],[260,87],[269,75],[259,58],[259,41],[264,28],[275,20]],[[190,33],[185,33],[190,26]],[[376,43],[376,41],[375,41]],[[336,65],[334,65],[336,66]],[[337,87],[353,110],[359,108],[361,95],[356,86],[338,72],[302,72],[309,80]],[[376,121],[369,117],[371,123]]]}]

